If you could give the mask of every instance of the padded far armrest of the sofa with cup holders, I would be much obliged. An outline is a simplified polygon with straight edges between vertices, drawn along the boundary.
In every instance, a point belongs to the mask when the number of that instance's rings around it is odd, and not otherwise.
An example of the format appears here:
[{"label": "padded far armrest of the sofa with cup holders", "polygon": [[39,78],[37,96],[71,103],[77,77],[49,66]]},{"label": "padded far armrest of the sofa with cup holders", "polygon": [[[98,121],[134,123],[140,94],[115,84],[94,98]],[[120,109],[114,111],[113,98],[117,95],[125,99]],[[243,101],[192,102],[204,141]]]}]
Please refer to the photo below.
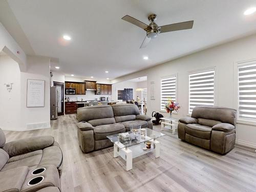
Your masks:
[{"label": "padded far armrest of the sofa with cup holders", "polygon": [[4,145],[3,150],[5,150],[9,156],[13,157],[41,150],[53,144],[53,136],[39,136],[8,142]]}]

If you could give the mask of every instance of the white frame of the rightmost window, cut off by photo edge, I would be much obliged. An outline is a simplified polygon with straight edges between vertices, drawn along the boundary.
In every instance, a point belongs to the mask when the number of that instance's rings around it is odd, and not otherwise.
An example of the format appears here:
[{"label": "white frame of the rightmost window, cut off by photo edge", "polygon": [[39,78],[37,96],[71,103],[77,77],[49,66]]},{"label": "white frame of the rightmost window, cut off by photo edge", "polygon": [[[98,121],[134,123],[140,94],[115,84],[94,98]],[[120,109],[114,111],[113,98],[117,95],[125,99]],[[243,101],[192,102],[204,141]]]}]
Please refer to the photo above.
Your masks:
[{"label": "white frame of the rightmost window, cut off by photo edge", "polygon": [[256,63],[256,59],[234,62],[233,66],[233,106],[237,109],[237,122],[241,124],[256,125],[256,119],[240,117],[239,111],[239,67],[252,65]]}]

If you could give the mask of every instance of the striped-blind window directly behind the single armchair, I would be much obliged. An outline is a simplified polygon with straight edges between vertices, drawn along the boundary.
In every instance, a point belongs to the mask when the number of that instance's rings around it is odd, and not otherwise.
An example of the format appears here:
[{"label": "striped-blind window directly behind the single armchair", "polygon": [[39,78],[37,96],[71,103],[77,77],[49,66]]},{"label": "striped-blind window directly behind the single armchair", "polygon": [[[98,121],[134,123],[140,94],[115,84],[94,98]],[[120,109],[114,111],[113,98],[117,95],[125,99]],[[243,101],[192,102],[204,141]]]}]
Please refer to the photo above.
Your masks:
[{"label": "striped-blind window directly behind the single armchair", "polygon": [[189,74],[189,114],[195,106],[215,104],[214,76],[214,69]]}]

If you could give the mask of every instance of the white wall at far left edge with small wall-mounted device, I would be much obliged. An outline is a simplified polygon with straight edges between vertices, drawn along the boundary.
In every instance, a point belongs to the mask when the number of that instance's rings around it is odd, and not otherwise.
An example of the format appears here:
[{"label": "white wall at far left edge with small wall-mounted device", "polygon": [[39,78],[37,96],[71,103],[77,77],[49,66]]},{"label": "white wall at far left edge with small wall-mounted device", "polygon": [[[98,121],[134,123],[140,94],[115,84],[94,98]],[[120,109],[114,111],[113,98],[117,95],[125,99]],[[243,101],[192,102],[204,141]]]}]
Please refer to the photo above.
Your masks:
[{"label": "white wall at far left edge with small wall-mounted device", "polygon": [[[5,83],[13,83],[9,92]],[[9,56],[0,56],[0,128],[20,128],[20,72],[18,63]]]}]

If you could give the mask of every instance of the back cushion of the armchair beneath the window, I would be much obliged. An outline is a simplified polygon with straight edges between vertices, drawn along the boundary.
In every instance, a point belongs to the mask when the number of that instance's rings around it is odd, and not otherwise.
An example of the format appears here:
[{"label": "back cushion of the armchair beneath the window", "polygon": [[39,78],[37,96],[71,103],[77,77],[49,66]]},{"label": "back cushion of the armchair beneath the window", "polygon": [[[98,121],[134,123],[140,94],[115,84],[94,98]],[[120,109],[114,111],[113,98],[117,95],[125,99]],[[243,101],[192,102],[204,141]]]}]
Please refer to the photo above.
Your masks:
[{"label": "back cushion of the armchair beneath the window", "polygon": [[220,106],[196,106],[192,111],[191,117],[221,121],[236,126],[237,110]]}]

